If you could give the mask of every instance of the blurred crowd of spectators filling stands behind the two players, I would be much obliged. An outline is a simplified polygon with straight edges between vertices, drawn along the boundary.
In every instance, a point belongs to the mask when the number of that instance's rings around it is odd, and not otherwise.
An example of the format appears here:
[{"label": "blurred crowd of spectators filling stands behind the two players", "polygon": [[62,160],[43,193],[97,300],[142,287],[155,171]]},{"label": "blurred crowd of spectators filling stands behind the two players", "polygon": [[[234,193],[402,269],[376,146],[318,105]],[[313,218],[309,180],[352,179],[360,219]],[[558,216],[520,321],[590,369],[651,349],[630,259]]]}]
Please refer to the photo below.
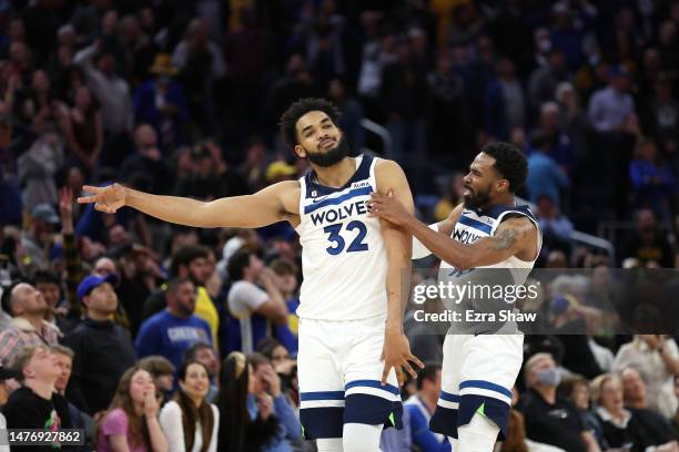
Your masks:
[{"label": "blurred crowd of spectators filling stands behind the two players", "polygon": [[[676,0],[0,1],[8,425],[83,428],[85,450],[313,450],[295,232],[73,203],[85,182],[210,201],[296,178],[276,124],[300,97],[341,109],[354,154],[399,162],[426,222],[460,202],[485,143],[508,141],[528,156],[540,267],[676,268],[678,28]],[[545,306],[591,322],[574,290]],[[446,451],[426,422],[440,337],[409,312],[429,366],[383,448]],[[503,451],[596,450],[581,432],[679,450],[672,335],[533,336],[526,359]]]}]

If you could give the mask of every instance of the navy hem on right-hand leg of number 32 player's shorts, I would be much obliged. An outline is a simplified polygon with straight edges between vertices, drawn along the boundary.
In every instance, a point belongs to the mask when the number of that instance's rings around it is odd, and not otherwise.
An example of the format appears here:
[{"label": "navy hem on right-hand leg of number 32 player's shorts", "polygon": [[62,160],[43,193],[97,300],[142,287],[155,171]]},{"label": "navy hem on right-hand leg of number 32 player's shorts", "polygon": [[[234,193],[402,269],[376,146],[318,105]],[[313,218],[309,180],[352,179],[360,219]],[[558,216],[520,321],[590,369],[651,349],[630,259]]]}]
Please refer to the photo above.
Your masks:
[{"label": "navy hem on right-hand leg of number 32 player's shorts", "polygon": [[[403,403],[371,394],[349,394],[344,404],[344,423],[384,424],[403,429]],[[393,415],[392,415],[393,414]]]}]

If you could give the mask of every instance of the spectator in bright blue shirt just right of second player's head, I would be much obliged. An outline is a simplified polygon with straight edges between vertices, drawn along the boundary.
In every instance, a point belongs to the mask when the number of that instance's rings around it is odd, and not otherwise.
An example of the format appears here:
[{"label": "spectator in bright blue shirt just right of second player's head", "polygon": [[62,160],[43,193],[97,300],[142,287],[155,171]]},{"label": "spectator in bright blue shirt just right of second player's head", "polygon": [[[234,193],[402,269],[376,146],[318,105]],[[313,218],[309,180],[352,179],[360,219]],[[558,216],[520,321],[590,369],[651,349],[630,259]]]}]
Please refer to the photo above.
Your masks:
[{"label": "spectator in bright blue shirt just right of second player's head", "polygon": [[528,198],[535,203],[540,195],[548,195],[559,206],[560,192],[570,186],[570,181],[549,155],[550,143],[545,134],[536,133],[530,145],[534,152],[528,157]]}]

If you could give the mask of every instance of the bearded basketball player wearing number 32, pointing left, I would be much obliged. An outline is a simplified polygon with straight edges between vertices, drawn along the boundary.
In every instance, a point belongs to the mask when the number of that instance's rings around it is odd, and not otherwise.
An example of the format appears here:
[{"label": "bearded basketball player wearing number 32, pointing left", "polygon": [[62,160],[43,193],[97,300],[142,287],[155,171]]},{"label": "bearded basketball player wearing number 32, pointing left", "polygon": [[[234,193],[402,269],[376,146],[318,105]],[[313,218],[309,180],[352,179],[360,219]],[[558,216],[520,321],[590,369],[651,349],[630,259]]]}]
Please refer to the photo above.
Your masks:
[{"label": "bearded basketball player wearing number 32, pointing left", "polygon": [[[392,161],[348,156],[327,101],[303,99],[281,119],[281,132],[312,171],[254,195],[202,203],[113,184],[79,203],[114,213],[130,206],[193,227],[261,227],[287,220],[303,246],[298,379],[301,423],[318,451],[378,451],[383,427],[401,428],[401,370],[415,377],[403,333],[401,285],[409,274],[412,237],[369,217],[372,192],[393,192],[406,212],[413,197]],[[393,369],[394,368],[394,369]],[[395,372],[394,370],[397,370]],[[398,373],[398,376],[397,376]]]}]

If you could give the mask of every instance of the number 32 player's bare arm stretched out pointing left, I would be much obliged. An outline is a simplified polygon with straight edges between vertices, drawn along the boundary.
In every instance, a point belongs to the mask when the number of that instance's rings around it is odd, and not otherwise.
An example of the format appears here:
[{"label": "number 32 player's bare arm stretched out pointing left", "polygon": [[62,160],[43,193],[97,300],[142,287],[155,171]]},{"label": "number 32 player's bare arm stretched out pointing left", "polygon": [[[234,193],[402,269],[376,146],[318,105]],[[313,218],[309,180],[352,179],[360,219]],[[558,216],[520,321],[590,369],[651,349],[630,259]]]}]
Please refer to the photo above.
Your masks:
[{"label": "number 32 player's bare arm stretched out pointing left", "polygon": [[201,202],[196,199],[152,195],[120,184],[107,187],[83,186],[90,196],[81,204],[95,203],[94,208],[113,214],[130,206],[164,222],[193,227],[261,227],[284,219],[293,222],[298,214],[300,183],[285,181],[246,196],[232,196]]}]

